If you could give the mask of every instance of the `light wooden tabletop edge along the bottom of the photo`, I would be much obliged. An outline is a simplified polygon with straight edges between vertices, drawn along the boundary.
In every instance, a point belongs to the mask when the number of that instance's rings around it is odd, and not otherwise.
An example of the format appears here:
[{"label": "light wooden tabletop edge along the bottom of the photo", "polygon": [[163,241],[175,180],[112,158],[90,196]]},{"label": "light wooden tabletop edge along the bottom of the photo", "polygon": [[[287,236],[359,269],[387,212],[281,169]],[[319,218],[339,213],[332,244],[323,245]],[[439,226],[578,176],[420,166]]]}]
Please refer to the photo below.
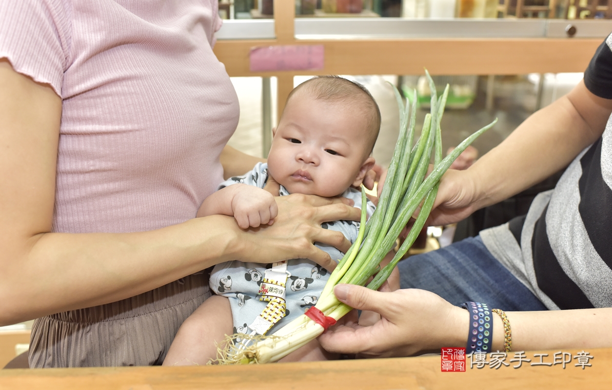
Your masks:
[{"label": "light wooden tabletop edge along the bottom of the photo", "polygon": [[[572,358],[580,350],[565,350]],[[501,366],[469,368],[466,372],[441,372],[440,356],[396,359],[266,364],[262,366],[116,367],[44,370],[0,370],[0,389],[610,389],[612,348],[588,350],[591,367],[565,369],[555,366]],[[537,353],[548,353],[552,362],[558,351],[526,352],[532,362]],[[506,362],[513,358],[508,355]],[[264,381],[267,379],[267,381]]]}]

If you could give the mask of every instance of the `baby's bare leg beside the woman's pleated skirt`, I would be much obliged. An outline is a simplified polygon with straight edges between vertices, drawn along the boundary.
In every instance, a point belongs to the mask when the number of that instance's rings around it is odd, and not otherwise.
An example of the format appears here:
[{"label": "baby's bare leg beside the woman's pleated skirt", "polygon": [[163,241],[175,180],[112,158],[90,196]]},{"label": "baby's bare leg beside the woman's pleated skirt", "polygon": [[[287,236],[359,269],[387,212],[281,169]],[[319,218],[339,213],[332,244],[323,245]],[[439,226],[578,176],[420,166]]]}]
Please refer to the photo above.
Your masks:
[{"label": "baby's bare leg beside the woman's pleated skirt", "polygon": [[163,366],[204,365],[217,357],[215,342],[233,334],[230,300],[213,295],[181,325]]}]

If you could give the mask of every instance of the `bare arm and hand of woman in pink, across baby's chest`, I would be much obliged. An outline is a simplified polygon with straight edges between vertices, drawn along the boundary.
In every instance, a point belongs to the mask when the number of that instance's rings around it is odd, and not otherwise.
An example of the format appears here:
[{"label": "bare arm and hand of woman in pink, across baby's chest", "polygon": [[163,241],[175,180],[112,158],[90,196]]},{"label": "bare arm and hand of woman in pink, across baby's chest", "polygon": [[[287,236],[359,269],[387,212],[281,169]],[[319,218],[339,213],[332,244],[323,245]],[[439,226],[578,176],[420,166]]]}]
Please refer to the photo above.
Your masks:
[{"label": "bare arm and hand of woman in pink, across baby's chest", "polygon": [[[350,242],[322,222],[359,220],[348,200],[279,199],[272,226],[210,216],[140,233],[50,233],[62,102],[0,59],[0,325],[129,298],[226,260],[312,258]],[[346,204],[345,204],[346,203]]]}]

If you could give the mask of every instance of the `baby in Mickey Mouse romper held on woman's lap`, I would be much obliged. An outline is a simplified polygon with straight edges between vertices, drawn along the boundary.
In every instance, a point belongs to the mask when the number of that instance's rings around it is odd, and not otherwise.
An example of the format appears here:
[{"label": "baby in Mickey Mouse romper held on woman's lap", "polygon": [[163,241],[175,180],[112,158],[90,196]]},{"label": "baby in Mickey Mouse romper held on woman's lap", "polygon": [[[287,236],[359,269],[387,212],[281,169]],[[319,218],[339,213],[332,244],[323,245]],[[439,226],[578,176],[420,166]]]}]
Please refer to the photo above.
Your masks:
[{"label": "baby in Mickey Mouse romper held on woman's lap", "polygon": [[[241,228],[273,223],[278,209],[272,194],[263,189],[270,178],[280,184],[280,196],[289,193],[342,196],[354,200],[354,206],[361,208],[361,193],[353,187],[360,186],[375,163],[370,155],[380,123],[378,105],[360,84],[335,76],[305,81],[289,94],[274,131],[267,163],[257,163],[244,176],[223,182],[220,190],[206,198],[198,217],[234,216]],[[374,209],[368,201],[368,216]],[[323,223],[323,227],[341,231],[354,242],[359,223],[335,221]],[[343,256],[334,247],[317,246],[336,261]],[[216,356],[215,342],[223,340],[226,334],[248,334],[255,330],[251,326],[258,328],[253,325],[254,320],[268,304],[259,299],[259,287],[264,278],[278,275],[271,271],[282,272],[286,310],[285,317],[266,334],[272,334],[275,328],[314,306],[329,279],[329,271],[307,259],[285,263],[275,265],[274,269],[272,264],[242,261],[215,266],[210,285],[218,295],[204,301],[182,324],[163,364],[206,364]],[[327,358],[331,357],[313,340],[285,359]]]}]

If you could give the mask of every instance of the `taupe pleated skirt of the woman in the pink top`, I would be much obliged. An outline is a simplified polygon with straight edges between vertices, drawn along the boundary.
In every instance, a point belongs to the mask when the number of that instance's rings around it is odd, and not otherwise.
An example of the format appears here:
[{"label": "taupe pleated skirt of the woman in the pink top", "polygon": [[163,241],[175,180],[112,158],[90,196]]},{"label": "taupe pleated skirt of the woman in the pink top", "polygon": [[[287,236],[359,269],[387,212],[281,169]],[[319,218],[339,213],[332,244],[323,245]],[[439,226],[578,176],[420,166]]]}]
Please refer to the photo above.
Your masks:
[{"label": "taupe pleated skirt of the woman in the pink top", "polygon": [[162,364],[183,321],[209,296],[203,272],[123,301],[39,318],[30,367]]}]

